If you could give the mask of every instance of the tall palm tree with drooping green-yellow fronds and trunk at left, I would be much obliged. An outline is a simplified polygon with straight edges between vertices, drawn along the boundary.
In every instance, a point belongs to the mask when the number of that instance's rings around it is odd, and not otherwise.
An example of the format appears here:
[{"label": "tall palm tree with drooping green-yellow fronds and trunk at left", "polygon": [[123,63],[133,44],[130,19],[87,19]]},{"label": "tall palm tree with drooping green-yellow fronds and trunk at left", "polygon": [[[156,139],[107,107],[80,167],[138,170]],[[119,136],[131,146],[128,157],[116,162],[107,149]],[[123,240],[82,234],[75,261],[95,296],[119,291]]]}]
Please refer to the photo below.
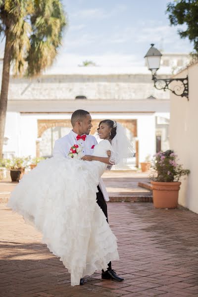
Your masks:
[{"label": "tall palm tree with drooping green-yellow fronds and trunk at left", "polygon": [[65,26],[60,0],[0,0],[0,37],[5,38],[0,93],[0,157],[10,65],[15,75],[38,75],[56,56]]}]

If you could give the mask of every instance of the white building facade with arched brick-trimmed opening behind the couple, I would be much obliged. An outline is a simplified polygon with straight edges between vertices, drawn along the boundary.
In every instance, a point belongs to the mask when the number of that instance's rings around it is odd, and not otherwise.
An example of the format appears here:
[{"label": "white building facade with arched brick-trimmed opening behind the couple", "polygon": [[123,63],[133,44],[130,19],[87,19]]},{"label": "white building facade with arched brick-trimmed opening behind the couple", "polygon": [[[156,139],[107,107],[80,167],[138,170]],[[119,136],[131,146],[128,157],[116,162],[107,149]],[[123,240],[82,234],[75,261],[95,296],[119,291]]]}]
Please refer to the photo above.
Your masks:
[{"label": "white building facade with arched brick-trimmed opening behind the couple", "polygon": [[[162,67],[159,77],[167,75],[170,68]],[[93,135],[102,119],[127,128],[138,166],[147,155],[169,148],[169,96],[153,87],[146,67],[78,67],[34,79],[11,77],[3,155],[50,156],[54,141],[71,129],[72,112],[85,109]]]}]

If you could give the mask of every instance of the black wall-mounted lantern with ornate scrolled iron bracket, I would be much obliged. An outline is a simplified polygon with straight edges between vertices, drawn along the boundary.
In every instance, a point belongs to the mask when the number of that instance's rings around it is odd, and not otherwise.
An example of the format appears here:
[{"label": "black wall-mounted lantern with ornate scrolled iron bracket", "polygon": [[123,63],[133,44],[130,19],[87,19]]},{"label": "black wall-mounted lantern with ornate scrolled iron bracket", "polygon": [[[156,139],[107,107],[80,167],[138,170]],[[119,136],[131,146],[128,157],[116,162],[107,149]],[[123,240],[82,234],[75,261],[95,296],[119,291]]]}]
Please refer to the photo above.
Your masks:
[{"label": "black wall-mounted lantern with ornate scrolled iron bracket", "polygon": [[148,69],[152,73],[154,87],[157,90],[170,90],[175,95],[186,97],[189,100],[188,76],[186,78],[156,78],[156,71],[159,69],[161,56],[161,52],[154,48],[154,44],[151,44],[151,48],[148,49],[148,52],[145,55]]}]

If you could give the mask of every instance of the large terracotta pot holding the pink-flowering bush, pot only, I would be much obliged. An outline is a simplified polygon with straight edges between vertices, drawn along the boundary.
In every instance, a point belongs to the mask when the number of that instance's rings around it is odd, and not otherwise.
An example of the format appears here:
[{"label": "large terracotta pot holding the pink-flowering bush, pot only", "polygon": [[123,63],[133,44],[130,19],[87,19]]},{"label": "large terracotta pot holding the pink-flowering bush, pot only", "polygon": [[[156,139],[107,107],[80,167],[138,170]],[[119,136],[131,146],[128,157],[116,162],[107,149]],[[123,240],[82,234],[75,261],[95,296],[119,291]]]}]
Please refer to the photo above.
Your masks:
[{"label": "large terracotta pot holding the pink-flowering bush, pot only", "polygon": [[155,208],[177,208],[180,182],[150,182]]}]

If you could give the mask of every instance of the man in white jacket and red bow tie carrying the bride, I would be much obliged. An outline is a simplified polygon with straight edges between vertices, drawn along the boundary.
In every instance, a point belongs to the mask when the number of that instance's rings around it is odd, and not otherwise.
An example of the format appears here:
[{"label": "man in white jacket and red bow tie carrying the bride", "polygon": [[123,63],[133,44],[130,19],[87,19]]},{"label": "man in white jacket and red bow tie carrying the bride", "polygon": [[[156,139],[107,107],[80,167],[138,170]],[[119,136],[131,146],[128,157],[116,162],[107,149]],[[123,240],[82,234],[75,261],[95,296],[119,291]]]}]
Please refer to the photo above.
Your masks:
[{"label": "man in white jacket and red bow tie carrying the bride", "polygon": [[[91,128],[93,127],[90,113],[83,109],[74,111],[71,116],[71,124],[73,129],[70,131],[70,133],[56,140],[53,148],[53,156],[68,157],[68,152],[74,144],[80,145],[82,147],[83,154],[91,155],[93,153],[94,146],[97,145],[97,140],[94,136],[89,135]],[[102,179],[99,181],[98,191],[97,203],[102,209],[108,222],[107,205],[105,200],[108,201],[109,198]],[[111,279],[117,282],[124,280],[123,278],[119,277],[111,268],[111,262],[108,263],[108,269],[106,271],[102,270],[101,278]],[[80,285],[84,285],[84,283],[85,280],[82,278],[80,280]]]}]

